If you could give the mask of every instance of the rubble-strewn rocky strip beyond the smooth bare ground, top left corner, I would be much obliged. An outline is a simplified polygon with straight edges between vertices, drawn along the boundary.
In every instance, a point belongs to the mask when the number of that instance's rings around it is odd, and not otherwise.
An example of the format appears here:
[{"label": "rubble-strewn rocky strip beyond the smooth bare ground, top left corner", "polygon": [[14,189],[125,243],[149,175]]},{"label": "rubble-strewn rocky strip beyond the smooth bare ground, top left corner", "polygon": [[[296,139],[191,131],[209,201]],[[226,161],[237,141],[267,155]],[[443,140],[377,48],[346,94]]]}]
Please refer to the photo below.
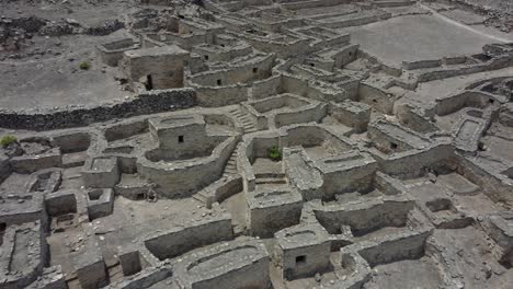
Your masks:
[{"label": "rubble-strewn rocky strip beyond the smooth bare ground, top left corner", "polygon": [[0,60],[65,54],[60,37],[104,36],[125,27],[134,0],[0,1]]}]

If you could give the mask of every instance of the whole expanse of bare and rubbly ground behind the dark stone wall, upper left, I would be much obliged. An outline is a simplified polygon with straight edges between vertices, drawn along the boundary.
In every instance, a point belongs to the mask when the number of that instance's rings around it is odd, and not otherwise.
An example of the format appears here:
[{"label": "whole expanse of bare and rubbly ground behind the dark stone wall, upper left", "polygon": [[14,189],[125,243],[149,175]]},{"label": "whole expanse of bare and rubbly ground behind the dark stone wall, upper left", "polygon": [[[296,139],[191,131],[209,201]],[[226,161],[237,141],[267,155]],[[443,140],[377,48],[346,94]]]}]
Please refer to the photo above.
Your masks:
[{"label": "whole expanse of bare and rubbly ground behind the dark stone wall, upper left", "polygon": [[129,37],[134,26],[158,31],[167,15],[196,14],[175,1],[159,11],[140,0],[0,0],[0,106],[54,108],[126,99],[96,45]]}]

